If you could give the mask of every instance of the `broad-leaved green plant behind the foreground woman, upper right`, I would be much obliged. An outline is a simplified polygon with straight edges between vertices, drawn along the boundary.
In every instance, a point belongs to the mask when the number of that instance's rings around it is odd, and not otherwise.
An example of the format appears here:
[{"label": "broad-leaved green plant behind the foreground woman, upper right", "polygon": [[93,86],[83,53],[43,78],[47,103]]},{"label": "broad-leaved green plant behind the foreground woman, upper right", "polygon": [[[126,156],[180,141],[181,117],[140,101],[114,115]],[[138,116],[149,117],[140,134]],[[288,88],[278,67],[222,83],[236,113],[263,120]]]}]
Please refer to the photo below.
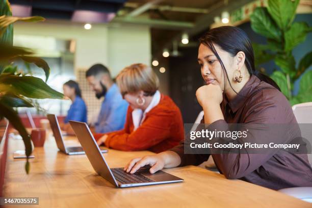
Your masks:
[{"label": "broad-leaved green plant behind the foreground woman, upper right", "polygon": [[[255,65],[274,60],[280,70],[275,70],[270,77],[291,105],[312,101],[312,71],[306,71],[312,64],[312,51],[300,60],[297,67],[292,54],[292,50],[312,31],[306,22],[293,22],[298,4],[299,0],[268,0],[267,7],[257,7],[250,16],[252,30],[267,38],[266,45],[253,43]],[[294,83],[299,77],[299,93],[294,95]]]}]

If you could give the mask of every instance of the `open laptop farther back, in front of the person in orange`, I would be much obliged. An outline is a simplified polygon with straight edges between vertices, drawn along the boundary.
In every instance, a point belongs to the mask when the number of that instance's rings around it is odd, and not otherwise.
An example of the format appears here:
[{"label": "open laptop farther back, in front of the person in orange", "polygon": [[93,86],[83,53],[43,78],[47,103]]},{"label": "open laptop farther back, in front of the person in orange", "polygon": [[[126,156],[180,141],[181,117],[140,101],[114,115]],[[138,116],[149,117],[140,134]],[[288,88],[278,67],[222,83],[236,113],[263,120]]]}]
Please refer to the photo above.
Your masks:
[{"label": "open laptop farther back, in front of the person in orange", "polygon": [[[57,146],[61,152],[64,152],[65,154],[73,155],[73,154],[85,154],[84,149],[81,146],[74,146],[74,147],[66,147],[62,133],[61,128],[58,122],[58,119],[56,115],[54,114],[47,114],[47,119],[49,120],[55,141],[57,143]],[[107,149],[101,149],[102,153],[107,152]]]}]

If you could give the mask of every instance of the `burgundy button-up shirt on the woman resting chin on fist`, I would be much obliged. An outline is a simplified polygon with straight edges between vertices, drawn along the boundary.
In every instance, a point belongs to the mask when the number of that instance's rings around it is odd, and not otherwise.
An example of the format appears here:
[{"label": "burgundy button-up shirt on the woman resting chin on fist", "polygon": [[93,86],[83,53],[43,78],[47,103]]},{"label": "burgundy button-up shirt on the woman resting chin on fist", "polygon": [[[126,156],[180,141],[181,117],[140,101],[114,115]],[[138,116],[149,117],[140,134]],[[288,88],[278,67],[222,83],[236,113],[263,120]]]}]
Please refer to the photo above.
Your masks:
[{"label": "burgundy button-up shirt on the woman resting chin on fist", "polygon": [[[289,101],[273,86],[252,75],[239,94],[228,101],[223,96],[220,104],[224,120],[210,126],[228,123],[297,123]],[[289,129],[289,131],[296,131]],[[281,133],[279,141],[289,141],[293,132]],[[258,137],[258,138],[256,138]],[[259,141],[261,135],[255,135]],[[254,141],[256,142],[256,141]],[[181,158],[180,166],[199,165],[210,154],[184,154],[184,142],[171,149]],[[224,153],[212,154],[219,171],[227,178],[239,178],[270,189],[289,187],[312,187],[312,169],[307,154],[295,154],[282,150],[271,150],[264,154]]]}]

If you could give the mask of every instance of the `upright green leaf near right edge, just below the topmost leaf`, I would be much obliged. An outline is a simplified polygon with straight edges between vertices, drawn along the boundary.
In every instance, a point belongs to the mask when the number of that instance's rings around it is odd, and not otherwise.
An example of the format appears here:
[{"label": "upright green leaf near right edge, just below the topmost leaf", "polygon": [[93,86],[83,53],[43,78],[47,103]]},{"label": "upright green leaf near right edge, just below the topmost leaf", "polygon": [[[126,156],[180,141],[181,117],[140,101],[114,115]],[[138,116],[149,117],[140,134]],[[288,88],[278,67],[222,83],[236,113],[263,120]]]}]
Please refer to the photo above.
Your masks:
[{"label": "upright green leaf near right edge, just below the topmost leaf", "polygon": [[294,49],[296,45],[306,38],[309,25],[306,22],[295,22],[291,28],[285,32],[285,51]]}]

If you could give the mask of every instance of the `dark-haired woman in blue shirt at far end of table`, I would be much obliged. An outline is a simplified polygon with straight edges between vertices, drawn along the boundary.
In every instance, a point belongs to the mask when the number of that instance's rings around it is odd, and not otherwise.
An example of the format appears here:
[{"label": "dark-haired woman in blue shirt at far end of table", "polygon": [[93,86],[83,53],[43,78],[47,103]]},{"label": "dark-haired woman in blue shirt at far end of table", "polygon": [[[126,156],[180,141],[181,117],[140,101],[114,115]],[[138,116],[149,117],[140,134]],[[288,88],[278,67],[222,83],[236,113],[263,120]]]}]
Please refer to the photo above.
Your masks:
[{"label": "dark-haired woman in blue shirt at far end of table", "polygon": [[87,122],[87,106],[81,97],[81,90],[77,82],[69,80],[63,85],[63,91],[64,95],[72,101],[72,104],[61,128],[69,134],[74,134],[68,121]]}]

